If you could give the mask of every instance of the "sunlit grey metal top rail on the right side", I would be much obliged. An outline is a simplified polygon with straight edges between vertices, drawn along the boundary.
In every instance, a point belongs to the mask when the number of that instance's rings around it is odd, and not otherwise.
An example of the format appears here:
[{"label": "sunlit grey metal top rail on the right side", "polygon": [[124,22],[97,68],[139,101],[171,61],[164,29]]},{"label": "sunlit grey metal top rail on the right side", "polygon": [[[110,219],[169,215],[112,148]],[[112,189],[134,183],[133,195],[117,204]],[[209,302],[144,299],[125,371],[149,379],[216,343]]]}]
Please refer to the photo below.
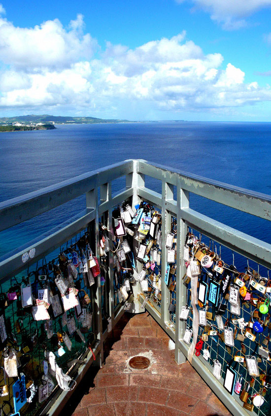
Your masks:
[{"label": "sunlit grey metal top rail on the right side", "polygon": [[179,170],[169,170],[165,166],[143,160],[137,161],[137,172],[160,179],[172,185],[177,186],[179,184],[183,190],[193,192],[204,198],[257,217],[271,220],[270,195],[239,188],[234,185]]}]

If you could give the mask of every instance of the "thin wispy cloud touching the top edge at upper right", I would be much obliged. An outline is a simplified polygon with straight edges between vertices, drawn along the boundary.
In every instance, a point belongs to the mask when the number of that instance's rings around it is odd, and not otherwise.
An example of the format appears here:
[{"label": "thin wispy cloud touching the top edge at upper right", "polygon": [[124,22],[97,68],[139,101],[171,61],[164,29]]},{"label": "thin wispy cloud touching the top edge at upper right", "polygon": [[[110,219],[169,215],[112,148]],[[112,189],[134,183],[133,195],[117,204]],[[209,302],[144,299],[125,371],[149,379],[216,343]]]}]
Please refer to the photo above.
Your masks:
[{"label": "thin wispy cloud touching the top edge at upper right", "polygon": [[[176,0],[182,3],[186,0]],[[192,0],[196,7],[210,13],[211,19],[222,24],[226,30],[236,30],[246,26],[245,17],[271,7],[271,0]]]}]

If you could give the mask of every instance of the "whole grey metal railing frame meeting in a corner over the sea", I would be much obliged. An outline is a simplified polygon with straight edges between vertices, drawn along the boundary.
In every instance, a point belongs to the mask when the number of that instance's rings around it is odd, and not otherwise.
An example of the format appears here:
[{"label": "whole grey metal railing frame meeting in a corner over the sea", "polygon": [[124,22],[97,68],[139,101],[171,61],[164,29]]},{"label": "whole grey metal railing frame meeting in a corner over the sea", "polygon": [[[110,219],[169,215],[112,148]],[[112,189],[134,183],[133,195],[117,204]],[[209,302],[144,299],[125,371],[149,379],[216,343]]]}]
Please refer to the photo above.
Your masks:
[{"label": "whole grey metal railing frame meeting in a corner over the sea", "polygon": [[[161,181],[162,193],[156,189],[145,186],[145,175],[154,180]],[[126,187],[112,196],[112,181],[125,176]],[[153,187],[153,186],[152,186]],[[155,188],[155,187],[154,187]],[[198,175],[171,170],[167,167],[148,163],[144,160],[127,160],[122,163],[108,166],[102,170],[80,175],[76,178],[64,181],[57,185],[32,192],[28,195],[11,199],[0,203],[0,231],[22,223],[30,218],[56,208],[80,195],[86,195],[86,208],[59,224],[44,235],[35,238],[23,247],[18,247],[12,253],[5,254],[0,259],[0,277],[2,281],[25,270],[26,266],[35,264],[46,254],[66,243],[73,236],[84,230],[95,221],[96,230],[96,254],[99,259],[99,219],[102,215],[108,218],[107,229],[109,230],[109,243],[112,246],[112,210],[124,200],[131,199],[133,206],[146,201],[161,210],[162,213],[162,254],[161,254],[161,304],[154,308],[151,301],[146,304],[146,310],[157,320],[169,337],[175,342],[175,360],[182,363],[186,360],[189,346],[182,341],[185,331],[185,322],[179,320],[181,307],[187,303],[187,286],[182,277],[186,274],[186,266],[183,259],[183,247],[186,240],[188,227],[197,230],[208,239],[221,244],[230,250],[244,256],[251,261],[269,269],[271,268],[271,244],[251,237],[221,222],[203,215],[190,208],[189,195],[196,194],[222,205],[235,208],[239,211],[270,220],[271,219],[271,197],[268,195],[241,189],[235,186],[206,179]],[[100,194],[100,199],[99,199]],[[176,194],[176,199],[174,195]],[[174,302],[176,305],[175,324],[172,314],[170,316],[169,303],[172,299],[163,276],[167,267],[166,236],[171,227],[171,217],[176,218],[176,290]],[[134,241],[136,252],[137,241]],[[34,258],[29,258],[27,263],[22,262],[22,255],[35,249]],[[109,255],[108,277],[109,288],[109,314],[112,326],[116,324],[123,313],[124,306],[117,312],[114,308],[113,287],[113,256]],[[139,273],[142,263],[135,260],[135,273]],[[133,286],[134,302],[131,312],[142,312],[140,304],[145,295],[141,292],[140,284]],[[106,331],[102,331],[101,318],[101,281],[97,285],[95,299],[97,313],[97,340],[96,352],[99,354],[99,364],[103,361],[102,344],[106,337]],[[92,355],[87,354],[88,365],[77,369],[77,377],[80,379],[92,362]],[[204,364],[204,365],[203,365]],[[235,415],[248,415],[241,407],[238,398],[234,398],[223,388],[222,384],[215,379],[210,371],[210,366],[203,358],[193,356],[192,365],[203,377],[215,394],[222,400],[225,406]],[[59,392],[58,392],[59,394]],[[54,414],[61,407],[61,400],[70,393],[62,392],[59,399],[52,406],[48,404],[45,411]],[[42,414],[45,414],[43,411]]]}]

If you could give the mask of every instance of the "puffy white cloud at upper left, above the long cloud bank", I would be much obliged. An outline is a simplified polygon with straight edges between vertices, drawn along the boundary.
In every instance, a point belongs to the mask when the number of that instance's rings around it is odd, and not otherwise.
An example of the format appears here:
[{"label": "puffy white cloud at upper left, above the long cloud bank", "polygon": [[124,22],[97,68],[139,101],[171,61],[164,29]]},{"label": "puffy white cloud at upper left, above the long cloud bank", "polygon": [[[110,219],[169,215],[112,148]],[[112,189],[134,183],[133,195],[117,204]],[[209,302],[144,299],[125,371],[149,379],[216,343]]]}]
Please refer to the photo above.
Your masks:
[{"label": "puffy white cloud at upper left, above the long cloud bank", "polygon": [[80,59],[90,59],[97,42],[83,35],[83,17],[70,22],[66,30],[58,19],[34,28],[15,27],[0,18],[0,60],[20,68],[65,68]]}]

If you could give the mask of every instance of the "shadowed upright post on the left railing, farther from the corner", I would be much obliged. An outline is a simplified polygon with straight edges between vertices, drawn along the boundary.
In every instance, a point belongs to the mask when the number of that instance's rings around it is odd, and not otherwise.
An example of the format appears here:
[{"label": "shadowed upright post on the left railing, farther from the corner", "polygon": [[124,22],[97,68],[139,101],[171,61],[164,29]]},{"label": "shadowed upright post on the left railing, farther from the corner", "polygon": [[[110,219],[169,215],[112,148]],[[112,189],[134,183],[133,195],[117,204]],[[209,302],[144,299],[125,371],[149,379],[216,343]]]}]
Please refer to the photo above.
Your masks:
[{"label": "shadowed upright post on the left railing, farther from the corner", "polygon": [[[95,209],[95,252],[100,260],[100,242],[99,242],[99,205],[98,205],[98,187],[95,186],[91,191],[86,192],[86,207]],[[100,341],[99,365],[102,367],[103,363],[103,335],[102,335],[102,289],[101,289],[101,275],[97,277],[95,309],[94,314],[96,318],[96,327],[98,328],[97,340]]]}]

